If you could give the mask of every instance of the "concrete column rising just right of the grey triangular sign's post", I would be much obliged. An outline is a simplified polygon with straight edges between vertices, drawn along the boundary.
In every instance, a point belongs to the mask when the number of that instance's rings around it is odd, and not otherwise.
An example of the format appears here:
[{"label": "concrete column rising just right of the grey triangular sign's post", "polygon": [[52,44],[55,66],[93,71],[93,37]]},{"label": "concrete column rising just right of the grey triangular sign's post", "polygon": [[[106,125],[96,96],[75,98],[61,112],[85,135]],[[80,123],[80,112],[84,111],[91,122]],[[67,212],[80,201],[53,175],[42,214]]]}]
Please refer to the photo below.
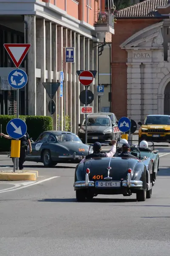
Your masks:
[{"label": "concrete column rising just right of the grey triangular sign's post", "polygon": [[[52,71],[53,71],[53,82],[57,82],[57,25],[52,24],[51,26],[51,53],[52,53]],[[59,89],[58,89],[59,91]],[[57,118],[57,92],[54,96],[54,102],[56,103],[56,112],[53,114],[53,128],[57,130],[58,118]]]}]

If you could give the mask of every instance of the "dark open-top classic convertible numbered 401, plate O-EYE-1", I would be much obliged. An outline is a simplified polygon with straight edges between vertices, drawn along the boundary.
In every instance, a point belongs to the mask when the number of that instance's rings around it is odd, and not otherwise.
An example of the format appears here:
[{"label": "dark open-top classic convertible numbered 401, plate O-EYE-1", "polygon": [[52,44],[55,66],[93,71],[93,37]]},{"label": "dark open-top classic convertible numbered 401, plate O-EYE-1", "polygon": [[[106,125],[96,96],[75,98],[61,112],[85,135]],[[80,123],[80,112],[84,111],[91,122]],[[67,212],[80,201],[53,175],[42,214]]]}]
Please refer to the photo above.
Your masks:
[{"label": "dark open-top classic convertible numbered 401, plate O-EYE-1", "polygon": [[97,195],[130,196],[137,201],[151,198],[153,162],[141,157],[136,145],[132,146],[138,159],[127,157],[101,157],[79,163],[75,170],[74,190],[77,201],[91,200]]}]

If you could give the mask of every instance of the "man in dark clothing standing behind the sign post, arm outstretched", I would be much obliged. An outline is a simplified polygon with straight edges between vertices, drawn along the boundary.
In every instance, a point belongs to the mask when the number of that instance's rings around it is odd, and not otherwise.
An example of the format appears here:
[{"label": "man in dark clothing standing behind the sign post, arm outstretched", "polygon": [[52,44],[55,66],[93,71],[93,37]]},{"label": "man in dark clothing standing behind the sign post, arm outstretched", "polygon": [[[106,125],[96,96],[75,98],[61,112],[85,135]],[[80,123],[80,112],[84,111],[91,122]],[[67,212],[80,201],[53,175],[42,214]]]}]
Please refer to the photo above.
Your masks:
[{"label": "man in dark clothing standing behind the sign post, arm outstretched", "polygon": [[[3,134],[3,133],[0,133],[0,136],[3,136],[4,138],[6,138],[8,140],[12,139],[9,135]],[[29,135],[28,135],[27,132],[19,140],[21,141],[21,144],[20,144],[20,158],[19,158],[19,162],[18,162],[18,167],[19,167],[20,170],[23,170],[23,163],[24,163],[25,158],[26,158],[26,151],[27,151],[28,145],[29,145],[29,152],[30,153],[32,151],[32,146],[31,146],[31,141],[29,139]],[[13,159],[12,159],[12,161],[13,161]]]}]

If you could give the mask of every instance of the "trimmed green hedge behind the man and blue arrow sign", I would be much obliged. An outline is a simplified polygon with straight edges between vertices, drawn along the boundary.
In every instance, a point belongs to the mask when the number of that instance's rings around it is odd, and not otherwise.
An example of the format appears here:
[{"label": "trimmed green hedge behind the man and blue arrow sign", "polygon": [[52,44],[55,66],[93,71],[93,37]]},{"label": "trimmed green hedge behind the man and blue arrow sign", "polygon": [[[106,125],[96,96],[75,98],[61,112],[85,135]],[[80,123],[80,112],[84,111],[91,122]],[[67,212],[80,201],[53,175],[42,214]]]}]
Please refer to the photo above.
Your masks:
[{"label": "trimmed green hedge behind the man and blue arrow sign", "polygon": [[[2,132],[7,134],[6,125],[11,119],[17,116],[0,115],[0,124],[2,125]],[[51,116],[19,116],[27,125],[27,132],[33,140],[37,140],[40,133],[43,131],[53,130],[53,119]],[[11,140],[0,138],[0,151],[9,151]]]}]

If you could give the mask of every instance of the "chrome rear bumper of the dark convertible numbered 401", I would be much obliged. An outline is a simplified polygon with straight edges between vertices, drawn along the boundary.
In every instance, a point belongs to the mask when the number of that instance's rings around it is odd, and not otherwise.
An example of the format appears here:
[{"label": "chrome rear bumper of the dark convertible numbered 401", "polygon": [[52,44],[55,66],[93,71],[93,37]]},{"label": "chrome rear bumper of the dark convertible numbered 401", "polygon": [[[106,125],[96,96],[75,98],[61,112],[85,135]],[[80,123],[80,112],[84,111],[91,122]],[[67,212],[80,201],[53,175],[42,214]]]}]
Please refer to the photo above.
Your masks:
[{"label": "chrome rear bumper of the dark convertible numbered 401", "polygon": [[[76,181],[74,183],[74,187],[94,187],[94,181],[90,181],[88,174],[85,175],[85,180],[82,181]],[[127,180],[122,181],[123,187],[129,187],[129,188],[142,188],[143,187],[143,181],[141,180],[131,180],[130,174],[127,175]]]}]

